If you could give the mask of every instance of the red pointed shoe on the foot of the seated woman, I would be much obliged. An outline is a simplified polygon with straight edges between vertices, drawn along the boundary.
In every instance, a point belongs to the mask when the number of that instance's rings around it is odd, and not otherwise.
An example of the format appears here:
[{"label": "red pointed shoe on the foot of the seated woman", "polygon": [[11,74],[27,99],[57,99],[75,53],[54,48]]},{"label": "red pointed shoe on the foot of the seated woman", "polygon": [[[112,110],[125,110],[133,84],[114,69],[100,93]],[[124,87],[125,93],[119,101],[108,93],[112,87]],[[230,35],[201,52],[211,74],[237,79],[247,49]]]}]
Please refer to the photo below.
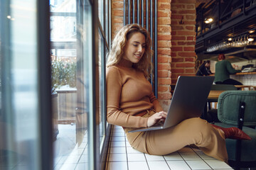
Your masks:
[{"label": "red pointed shoe on the foot of the seated woman", "polygon": [[[211,124],[213,125],[213,124]],[[220,130],[223,130],[225,134],[225,138],[235,139],[235,140],[252,140],[252,138],[247,135],[245,132],[240,130],[239,128],[223,128],[218,125],[213,125],[214,128],[218,128]]]}]

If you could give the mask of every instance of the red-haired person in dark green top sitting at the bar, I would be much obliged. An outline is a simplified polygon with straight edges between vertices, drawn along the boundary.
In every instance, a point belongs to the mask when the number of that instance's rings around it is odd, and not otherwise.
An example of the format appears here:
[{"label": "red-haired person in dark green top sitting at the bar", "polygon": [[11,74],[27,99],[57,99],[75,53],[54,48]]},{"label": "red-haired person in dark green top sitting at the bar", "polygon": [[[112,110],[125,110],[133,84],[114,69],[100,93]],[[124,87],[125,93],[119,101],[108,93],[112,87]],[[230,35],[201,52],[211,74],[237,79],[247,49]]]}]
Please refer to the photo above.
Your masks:
[{"label": "red-haired person in dark green top sitting at the bar", "polygon": [[231,63],[225,60],[225,55],[218,55],[218,62],[215,64],[215,84],[242,85],[239,81],[230,79],[230,74],[236,74],[237,72],[241,72],[241,70],[235,70]]}]

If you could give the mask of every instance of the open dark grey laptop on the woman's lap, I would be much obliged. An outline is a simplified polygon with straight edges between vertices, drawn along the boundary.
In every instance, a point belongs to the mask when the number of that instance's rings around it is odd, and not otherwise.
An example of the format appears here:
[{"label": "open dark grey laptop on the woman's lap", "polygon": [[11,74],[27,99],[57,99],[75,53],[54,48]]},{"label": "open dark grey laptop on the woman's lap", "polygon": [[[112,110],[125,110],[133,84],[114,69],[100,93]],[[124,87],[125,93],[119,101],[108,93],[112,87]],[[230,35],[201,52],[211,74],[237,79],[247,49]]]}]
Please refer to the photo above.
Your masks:
[{"label": "open dark grey laptop on the woman's lap", "polygon": [[200,117],[206,106],[214,77],[178,77],[166,120],[161,125],[137,128],[129,132],[161,130],[177,125],[188,118]]}]

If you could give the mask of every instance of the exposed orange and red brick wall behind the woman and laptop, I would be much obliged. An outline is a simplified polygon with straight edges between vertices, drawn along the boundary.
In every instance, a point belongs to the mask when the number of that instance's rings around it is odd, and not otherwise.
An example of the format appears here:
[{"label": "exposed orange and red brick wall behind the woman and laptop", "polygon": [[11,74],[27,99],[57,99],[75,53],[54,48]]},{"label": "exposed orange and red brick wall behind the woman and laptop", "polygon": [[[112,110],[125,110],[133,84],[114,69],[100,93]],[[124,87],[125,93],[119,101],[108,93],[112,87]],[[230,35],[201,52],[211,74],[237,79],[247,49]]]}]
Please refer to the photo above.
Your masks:
[{"label": "exposed orange and red brick wall behind the woman and laptop", "polygon": [[[195,74],[195,4],[196,0],[158,0],[158,98],[164,111],[178,75]],[[123,0],[112,0],[112,38],[122,26]]]}]

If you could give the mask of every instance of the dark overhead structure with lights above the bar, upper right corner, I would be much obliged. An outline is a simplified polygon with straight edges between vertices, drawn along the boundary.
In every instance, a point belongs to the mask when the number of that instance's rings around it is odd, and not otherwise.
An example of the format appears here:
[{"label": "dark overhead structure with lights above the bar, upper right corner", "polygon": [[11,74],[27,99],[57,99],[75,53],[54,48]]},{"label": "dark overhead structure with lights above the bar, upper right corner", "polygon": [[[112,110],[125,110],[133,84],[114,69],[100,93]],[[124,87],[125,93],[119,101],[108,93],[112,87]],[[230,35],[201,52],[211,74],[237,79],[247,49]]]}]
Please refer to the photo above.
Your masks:
[{"label": "dark overhead structure with lights above the bar, upper right corner", "polygon": [[[242,47],[225,47],[208,51],[210,47],[233,41],[255,38],[256,30],[256,2],[252,0],[222,0],[222,1],[196,1],[196,53],[199,59],[216,57],[219,53],[240,57],[245,60],[256,58],[255,41]],[[213,18],[212,23],[205,23],[206,18]],[[250,45],[250,47],[248,46]],[[248,53],[246,50],[250,48]],[[255,49],[255,50],[254,50]],[[233,51],[239,51],[239,54]],[[230,51],[232,51],[230,53]],[[255,51],[255,52],[254,52]]]}]

